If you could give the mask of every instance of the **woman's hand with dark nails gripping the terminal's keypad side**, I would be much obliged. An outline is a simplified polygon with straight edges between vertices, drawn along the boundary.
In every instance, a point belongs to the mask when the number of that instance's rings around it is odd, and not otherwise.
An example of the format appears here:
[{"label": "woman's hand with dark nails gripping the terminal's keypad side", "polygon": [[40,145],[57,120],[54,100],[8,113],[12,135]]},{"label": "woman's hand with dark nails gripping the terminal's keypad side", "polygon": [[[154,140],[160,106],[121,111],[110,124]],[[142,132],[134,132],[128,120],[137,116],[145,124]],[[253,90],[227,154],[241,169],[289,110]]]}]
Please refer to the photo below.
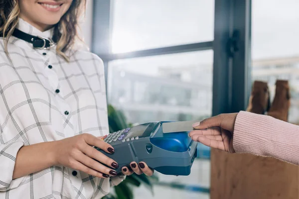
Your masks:
[{"label": "woman's hand with dark nails gripping the terminal's keypad side", "polygon": [[96,146],[107,153],[115,152],[110,144],[91,134],[84,133],[56,141],[55,163],[99,178],[116,176],[116,171],[109,167],[117,169],[118,164],[92,146]]}]

